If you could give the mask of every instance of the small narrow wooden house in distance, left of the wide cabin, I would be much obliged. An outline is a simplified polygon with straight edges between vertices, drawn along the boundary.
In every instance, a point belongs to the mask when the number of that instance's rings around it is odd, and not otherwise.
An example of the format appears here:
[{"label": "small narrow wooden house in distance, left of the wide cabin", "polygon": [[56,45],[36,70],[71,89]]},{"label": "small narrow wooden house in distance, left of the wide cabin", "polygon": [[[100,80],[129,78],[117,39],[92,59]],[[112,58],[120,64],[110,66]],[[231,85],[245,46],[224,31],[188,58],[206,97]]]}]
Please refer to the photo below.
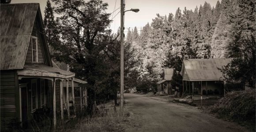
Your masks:
[{"label": "small narrow wooden house in distance, left of the wide cabin", "polygon": [[171,87],[171,80],[173,77],[173,68],[164,69],[162,81],[157,82],[159,95],[172,95],[173,88]]}]

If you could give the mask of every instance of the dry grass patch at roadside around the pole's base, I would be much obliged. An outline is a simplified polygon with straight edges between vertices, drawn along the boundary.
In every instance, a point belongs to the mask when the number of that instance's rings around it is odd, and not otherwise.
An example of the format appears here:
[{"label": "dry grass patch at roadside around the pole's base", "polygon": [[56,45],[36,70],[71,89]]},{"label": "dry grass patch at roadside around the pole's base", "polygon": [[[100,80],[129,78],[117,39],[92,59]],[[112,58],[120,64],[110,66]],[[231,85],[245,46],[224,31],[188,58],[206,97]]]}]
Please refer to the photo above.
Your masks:
[{"label": "dry grass patch at roadside around the pole's base", "polygon": [[119,107],[115,107],[113,102],[98,106],[98,112],[93,117],[84,117],[78,121],[70,122],[75,127],[66,128],[60,131],[66,132],[123,132],[124,125],[129,122],[129,113],[125,109],[124,114],[120,114]]}]

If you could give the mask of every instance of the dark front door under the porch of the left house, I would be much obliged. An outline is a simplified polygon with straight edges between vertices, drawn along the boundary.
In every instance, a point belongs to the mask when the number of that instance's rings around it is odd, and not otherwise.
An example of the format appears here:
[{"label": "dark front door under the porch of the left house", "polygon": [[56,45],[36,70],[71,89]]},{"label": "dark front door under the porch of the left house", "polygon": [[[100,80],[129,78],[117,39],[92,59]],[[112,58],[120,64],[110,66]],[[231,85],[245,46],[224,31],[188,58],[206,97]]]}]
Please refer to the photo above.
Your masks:
[{"label": "dark front door under the porch of the left house", "polygon": [[19,85],[20,92],[21,92],[21,121],[23,128],[26,128],[28,123],[27,123],[27,84],[20,84]]}]

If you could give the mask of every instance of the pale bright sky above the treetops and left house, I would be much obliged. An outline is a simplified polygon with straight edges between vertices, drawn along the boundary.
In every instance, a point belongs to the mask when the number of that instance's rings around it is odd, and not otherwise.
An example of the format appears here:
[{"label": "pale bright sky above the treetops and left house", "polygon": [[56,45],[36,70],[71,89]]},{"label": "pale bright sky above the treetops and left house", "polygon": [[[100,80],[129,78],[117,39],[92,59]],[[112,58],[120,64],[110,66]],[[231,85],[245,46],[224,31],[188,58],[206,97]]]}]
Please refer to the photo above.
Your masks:
[{"label": "pale bright sky above the treetops and left house", "polygon": [[[39,3],[42,15],[44,17],[46,1],[47,0],[12,0],[11,3]],[[108,10],[106,11],[107,13],[113,12],[115,7],[116,9],[120,7],[120,0],[103,1],[109,4]],[[132,11],[125,12],[124,27],[134,28],[137,26],[138,29],[140,29],[141,27],[145,26],[147,22],[151,23],[152,19],[156,17],[157,13],[167,16],[169,13],[173,13],[173,15],[175,15],[178,7],[180,7],[181,11],[184,9],[184,7],[186,7],[188,10],[192,9],[194,11],[196,6],[200,7],[200,4],[203,5],[205,1],[210,3],[212,7],[215,7],[218,0],[125,0],[126,10],[138,8],[140,11],[138,13]],[[219,1],[221,2],[221,0]],[[120,9],[114,12],[113,16],[115,16],[119,11]],[[112,16],[110,18],[112,18]],[[120,13],[113,18],[110,29],[116,33],[119,26]],[[127,29],[124,30],[124,32],[126,31]]]}]

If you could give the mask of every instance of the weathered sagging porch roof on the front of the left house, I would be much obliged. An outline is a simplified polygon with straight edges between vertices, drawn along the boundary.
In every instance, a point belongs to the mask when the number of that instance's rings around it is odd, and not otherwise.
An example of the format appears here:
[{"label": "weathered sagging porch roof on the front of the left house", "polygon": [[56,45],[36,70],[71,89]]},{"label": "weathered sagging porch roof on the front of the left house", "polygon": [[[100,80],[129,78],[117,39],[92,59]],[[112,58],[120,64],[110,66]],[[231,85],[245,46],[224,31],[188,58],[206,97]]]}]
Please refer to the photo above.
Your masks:
[{"label": "weathered sagging porch roof on the front of the left house", "polygon": [[50,66],[26,66],[23,70],[18,70],[17,73],[19,76],[31,77],[59,77],[65,79],[75,77],[75,73]]}]

